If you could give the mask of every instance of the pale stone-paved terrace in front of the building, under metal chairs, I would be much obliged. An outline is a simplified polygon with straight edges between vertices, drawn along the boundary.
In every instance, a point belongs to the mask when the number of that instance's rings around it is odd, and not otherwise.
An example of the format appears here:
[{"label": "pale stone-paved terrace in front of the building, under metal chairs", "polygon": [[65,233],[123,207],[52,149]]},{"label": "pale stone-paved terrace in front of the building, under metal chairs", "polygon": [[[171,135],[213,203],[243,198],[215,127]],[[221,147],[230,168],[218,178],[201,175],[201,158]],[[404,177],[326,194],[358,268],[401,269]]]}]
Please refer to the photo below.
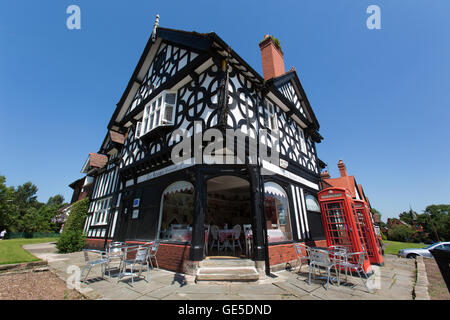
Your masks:
[{"label": "pale stone-paved terrace in front of the building, under metal chairs", "polygon": [[[37,257],[48,260],[49,268],[66,280],[71,265],[84,266],[81,252],[57,254],[54,244],[24,246]],[[371,284],[377,289],[369,293],[358,276],[348,277],[346,283],[330,285],[325,290],[325,280],[312,280],[308,285],[308,267],[298,270],[283,270],[250,283],[198,283],[193,276],[162,269],[150,271],[150,281],[131,278],[101,278],[100,267],[92,268],[87,283],[82,283],[80,292],[91,299],[120,300],[412,300],[415,283],[415,261],[393,255],[385,256],[383,267],[373,266]],[[117,274],[117,271],[113,272]],[[145,272],[143,272],[143,276]],[[345,276],[344,276],[345,277]],[[128,281],[129,280],[129,281]],[[341,277],[341,280],[342,279]]]}]

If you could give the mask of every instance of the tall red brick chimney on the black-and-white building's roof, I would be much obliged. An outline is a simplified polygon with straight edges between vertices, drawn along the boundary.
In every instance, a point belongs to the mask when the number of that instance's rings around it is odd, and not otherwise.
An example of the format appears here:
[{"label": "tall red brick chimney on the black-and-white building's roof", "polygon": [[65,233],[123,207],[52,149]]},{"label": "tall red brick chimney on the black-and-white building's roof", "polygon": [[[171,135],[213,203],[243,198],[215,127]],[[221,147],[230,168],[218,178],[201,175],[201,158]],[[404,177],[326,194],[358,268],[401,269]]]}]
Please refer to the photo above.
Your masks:
[{"label": "tall red brick chimney on the black-and-white building's roof", "polygon": [[275,44],[274,38],[268,34],[259,43],[264,80],[279,77],[286,72],[284,69],[283,51],[278,45]]}]

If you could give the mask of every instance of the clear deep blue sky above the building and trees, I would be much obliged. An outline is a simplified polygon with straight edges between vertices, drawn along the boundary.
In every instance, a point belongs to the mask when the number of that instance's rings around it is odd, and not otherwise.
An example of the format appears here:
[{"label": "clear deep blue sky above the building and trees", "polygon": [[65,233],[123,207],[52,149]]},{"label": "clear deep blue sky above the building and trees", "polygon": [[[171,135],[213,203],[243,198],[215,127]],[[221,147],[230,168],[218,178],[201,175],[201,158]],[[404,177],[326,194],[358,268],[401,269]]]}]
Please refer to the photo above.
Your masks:
[{"label": "clear deep blue sky above the building and trees", "polygon": [[[66,9],[81,8],[81,30]],[[381,30],[369,30],[369,5]],[[40,201],[82,177],[150,36],[216,32],[262,74],[258,43],[276,36],[324,137],[383,220],[450,203],[450,1],[2,1],[0,174]]]}]

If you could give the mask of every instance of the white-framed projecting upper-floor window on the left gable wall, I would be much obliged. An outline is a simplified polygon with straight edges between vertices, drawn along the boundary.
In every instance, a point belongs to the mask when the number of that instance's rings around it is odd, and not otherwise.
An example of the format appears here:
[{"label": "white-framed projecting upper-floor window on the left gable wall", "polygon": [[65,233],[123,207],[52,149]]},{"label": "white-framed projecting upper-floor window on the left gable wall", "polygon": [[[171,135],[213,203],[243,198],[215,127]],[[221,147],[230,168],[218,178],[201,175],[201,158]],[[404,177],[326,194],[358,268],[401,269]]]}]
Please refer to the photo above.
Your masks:
[{"label": "white-framed projecting upper-floor window on the left gable wall", "polygon": [[144,108],[142,122],[136,125],[136,137],[140,138],[150,131],[165,126],[173,126],[175,118],[176,93],[163,91]]}]

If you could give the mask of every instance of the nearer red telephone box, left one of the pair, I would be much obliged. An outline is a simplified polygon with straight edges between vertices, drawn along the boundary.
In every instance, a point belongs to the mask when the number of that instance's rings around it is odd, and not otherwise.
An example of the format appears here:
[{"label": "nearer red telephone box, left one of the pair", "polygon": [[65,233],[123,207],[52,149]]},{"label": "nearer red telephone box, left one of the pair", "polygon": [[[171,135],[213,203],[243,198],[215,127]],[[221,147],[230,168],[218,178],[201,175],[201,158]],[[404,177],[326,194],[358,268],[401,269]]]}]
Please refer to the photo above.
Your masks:
[{"label": "nearer red telephone box, left one of the pair", "polygon": [[[318,196],[327,246],[340,245],[350,252],[367,252],[351,194],[343,188],[327,188]],[[372,269],[367,255],[363,268],[366,273]]]}]

